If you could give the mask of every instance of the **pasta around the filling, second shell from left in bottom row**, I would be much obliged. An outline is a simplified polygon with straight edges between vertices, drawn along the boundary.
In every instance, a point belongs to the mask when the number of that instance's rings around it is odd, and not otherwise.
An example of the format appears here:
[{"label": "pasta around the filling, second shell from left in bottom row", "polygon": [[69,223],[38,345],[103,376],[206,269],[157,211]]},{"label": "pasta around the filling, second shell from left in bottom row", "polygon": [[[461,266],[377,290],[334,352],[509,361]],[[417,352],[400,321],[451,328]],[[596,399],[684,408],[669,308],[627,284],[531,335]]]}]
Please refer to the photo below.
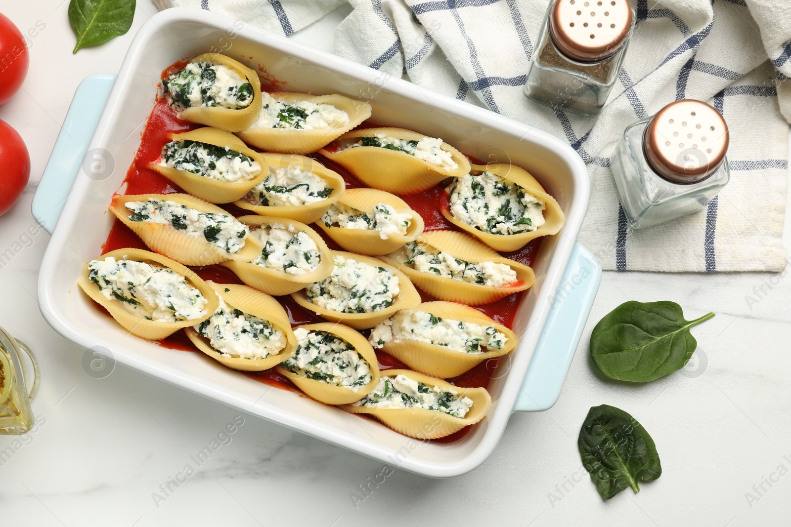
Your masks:
[{"label": "pasta around the filling, second shell from left in bottom row", "polygon": [[[221,355],[216,349],[211,347],[210,340],[202,337],[195,329],[195,326],[184,328],[184,333],[192,341],[192,344],[212,359],[217,360],[223,365],[240,371],[264,371],[276,366],[286,359],[290,359],[297,351],[297,338],[291,330],[289,315],[282,308],[277,300],[270,295],[265,295],[253,288],[240,284],[217,284],[211,280],[206,280],[206,284],[214,289],[230,307],[234,307],[246,314],[258,317],[274,328],[280,329],[286,335],[286,347],[277,355],[268,356],[266,359],[242,359],[239,357],[227,357]],[[216,311],[216,310],[215,310]]]}]

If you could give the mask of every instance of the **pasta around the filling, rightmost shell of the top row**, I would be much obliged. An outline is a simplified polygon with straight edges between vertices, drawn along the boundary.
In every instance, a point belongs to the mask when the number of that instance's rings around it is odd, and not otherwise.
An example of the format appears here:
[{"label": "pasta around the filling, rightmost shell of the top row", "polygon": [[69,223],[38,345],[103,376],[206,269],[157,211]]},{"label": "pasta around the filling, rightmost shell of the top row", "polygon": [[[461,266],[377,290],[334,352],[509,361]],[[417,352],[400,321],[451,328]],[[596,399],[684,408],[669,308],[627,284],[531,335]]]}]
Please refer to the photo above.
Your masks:
[{"label": "pasta around the filling, rightmost shell of the top row", "polygon": [[470,173],[477,175],[483,171],[498,175],[509,183],[521,186],[524,190],[528,190],[530,194],[534,194],[536,198],[543,200],[546,204],[546,209],[544,209],[543,213],[545,220],[544,224],[532,232],[520,232],[519,234],[508,235],[490,234],[489,232],[479,231],[472,225],[458,220],[456,216],[450,213],[449,209],[446,209],[445,206],[441,206],[442,215],[445,216],[449,222],[469,232],[492,249],[501,250],[503,252],[518,250],[524,247],[530,240],[536,239],[539,236],[553,235],[560,232],[563,224],[566,223],[566,215],[560,208],[558,201],[547,194],[547,191],[544,190],[543,186],[536,181],[536,178],[534,178],[530,172],[524,170],[524,168],[517,167],[515,164],[497,163],[487,165],[474,164],[472,165]]}]

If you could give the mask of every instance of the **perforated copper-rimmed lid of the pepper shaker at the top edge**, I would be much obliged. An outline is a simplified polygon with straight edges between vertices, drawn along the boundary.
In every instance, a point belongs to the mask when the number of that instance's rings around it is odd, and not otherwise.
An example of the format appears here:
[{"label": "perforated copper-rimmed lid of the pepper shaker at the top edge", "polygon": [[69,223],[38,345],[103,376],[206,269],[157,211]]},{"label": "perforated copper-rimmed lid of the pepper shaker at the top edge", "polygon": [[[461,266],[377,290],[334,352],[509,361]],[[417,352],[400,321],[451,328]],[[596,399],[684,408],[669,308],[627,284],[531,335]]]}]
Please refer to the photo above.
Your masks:
[{"label": "perforated copper-rimmed lid of the pepper shaker at the top edge", "polygon": [[581,62],[615,55],[631,27],[632,9],[627,0],[556,0],[549,17],[554,45]]}]

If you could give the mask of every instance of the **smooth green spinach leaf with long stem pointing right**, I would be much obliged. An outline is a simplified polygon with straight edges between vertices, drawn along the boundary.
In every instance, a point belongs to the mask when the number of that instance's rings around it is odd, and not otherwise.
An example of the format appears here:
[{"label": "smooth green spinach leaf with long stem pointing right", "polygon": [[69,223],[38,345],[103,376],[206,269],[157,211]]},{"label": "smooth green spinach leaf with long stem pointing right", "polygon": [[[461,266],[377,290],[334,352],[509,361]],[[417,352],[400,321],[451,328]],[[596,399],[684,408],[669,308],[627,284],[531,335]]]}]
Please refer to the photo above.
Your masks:
[{"label": "smooth green spinach leaf with long stem pointing right", "polygon": [[698,347],[690,328],[713,316],[688,321],[675,302],[622,303],[593,328],[591,358],[609,378],[653,381],[689,361]]}]

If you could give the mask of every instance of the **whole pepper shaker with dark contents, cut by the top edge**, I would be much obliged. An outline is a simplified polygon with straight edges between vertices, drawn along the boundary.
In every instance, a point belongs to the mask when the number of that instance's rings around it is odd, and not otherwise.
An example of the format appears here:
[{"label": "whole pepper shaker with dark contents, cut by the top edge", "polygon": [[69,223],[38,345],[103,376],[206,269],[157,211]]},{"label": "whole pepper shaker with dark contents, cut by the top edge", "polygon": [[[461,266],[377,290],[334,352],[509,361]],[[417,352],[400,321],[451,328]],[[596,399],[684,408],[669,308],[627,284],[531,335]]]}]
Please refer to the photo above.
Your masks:
[{"label": "whole pepper shaker with dark contents, cut by the top edge", "polygon": [[544,16],[525,94],[599,115],[621,69],[634,13],[627,0],[554,0]]}]

